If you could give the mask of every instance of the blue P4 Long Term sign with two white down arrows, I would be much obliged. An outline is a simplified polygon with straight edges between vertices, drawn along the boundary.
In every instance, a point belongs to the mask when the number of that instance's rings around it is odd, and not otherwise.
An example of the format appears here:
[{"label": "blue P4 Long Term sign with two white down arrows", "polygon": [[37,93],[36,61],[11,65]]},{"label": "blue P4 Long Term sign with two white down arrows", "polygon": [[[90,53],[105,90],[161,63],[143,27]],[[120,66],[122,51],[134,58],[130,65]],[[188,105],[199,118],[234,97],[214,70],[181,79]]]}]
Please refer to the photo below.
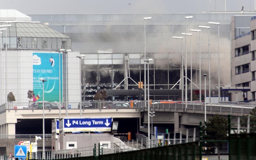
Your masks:
[{"label": "blue P4 Long Term sign with two white down arrows", "polygon": [[112,118],[62,118],[60,132],[110,132]]}]

